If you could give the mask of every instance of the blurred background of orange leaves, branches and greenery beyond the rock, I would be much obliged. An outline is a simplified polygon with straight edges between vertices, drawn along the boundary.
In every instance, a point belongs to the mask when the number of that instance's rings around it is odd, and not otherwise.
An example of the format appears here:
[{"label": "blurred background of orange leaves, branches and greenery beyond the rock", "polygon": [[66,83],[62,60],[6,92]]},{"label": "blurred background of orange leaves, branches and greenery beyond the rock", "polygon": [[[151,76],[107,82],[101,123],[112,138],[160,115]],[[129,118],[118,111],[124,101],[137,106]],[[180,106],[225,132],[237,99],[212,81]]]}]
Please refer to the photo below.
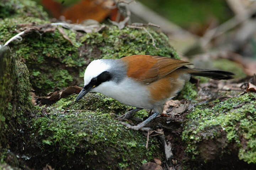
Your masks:
[{"label": "blurred background of orange leaves, branches and greenery beyond the rock", "polygon": [[233,71],[239,77],[256,72],[255,0],[35,1],[55,18],[52,22],[111,24],[129,15],[126,24],[160,26],[153,29],[167,34],[181,59],[195,67]]}]

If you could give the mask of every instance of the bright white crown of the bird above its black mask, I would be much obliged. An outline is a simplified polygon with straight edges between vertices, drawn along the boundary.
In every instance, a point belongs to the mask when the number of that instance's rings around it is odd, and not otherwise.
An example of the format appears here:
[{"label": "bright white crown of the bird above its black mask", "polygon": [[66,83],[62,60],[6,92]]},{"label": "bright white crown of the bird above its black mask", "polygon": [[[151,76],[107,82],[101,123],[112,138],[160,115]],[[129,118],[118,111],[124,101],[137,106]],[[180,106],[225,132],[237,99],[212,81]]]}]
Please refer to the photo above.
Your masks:
[{"label": "bright white crown of the bird above its black mask", "polygon": [[84,74],[84,85],[90,83],[91,79],[97,77],[103,71],[106,71],[110,68],[110,65],[106,64],[104,60],[94,60],[86,68]]}]

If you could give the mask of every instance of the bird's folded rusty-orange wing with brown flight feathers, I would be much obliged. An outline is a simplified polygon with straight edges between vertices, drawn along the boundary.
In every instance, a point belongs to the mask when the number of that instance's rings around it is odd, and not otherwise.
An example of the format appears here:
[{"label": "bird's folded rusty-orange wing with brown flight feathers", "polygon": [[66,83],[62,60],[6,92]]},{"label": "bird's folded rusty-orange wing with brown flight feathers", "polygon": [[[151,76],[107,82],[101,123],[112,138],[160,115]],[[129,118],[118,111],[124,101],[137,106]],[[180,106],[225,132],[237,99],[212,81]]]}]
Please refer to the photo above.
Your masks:
[{"label": "bird's folded rusty-orange wing with brown flight feathers", "polygon": [[191,63],[153,55],[132,55],[121,58],[127,64],[127,76],[149,84]]}]

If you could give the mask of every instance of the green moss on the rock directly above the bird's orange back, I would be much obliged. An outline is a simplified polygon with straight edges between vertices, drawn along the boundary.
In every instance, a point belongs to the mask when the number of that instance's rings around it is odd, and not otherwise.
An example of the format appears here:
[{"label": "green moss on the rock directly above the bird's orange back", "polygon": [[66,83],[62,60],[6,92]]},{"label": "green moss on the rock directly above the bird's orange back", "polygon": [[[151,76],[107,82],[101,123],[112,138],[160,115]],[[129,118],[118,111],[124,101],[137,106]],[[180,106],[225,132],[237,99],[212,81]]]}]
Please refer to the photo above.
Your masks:
[{"label": "green moss on the rock directly above the bird's orange back", "polygon": [[[154,37],[156,48],[149,34],[143,29],[107,26],[102,33],[92,32],[81,37],[81,41],[100,49],[102,58],[117,59],[135,54],[160,55],[179,59],[176,51],[169,45],[167,36],[162,32],[146,28]],[[93,49],[91,49],[93,50]]]}]

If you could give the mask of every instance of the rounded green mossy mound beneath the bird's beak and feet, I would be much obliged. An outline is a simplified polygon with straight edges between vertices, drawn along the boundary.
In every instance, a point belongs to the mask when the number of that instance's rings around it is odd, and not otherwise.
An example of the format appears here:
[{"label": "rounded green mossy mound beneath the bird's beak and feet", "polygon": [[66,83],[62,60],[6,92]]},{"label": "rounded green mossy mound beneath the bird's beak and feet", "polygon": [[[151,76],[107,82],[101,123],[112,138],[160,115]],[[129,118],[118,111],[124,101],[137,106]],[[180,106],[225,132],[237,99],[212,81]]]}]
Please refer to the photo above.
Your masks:
[{"label": "rounded green mossy mound beneath the bird's beak and feet", "polygon": [[124,113],[127,106],[99,94],[88,94],[77,103],[75,97],[42,109],[32,120],[31,160],[41,159],[56,169],[138,169],[143,160],[161,158],[155,138],[146,150],[145,136],[110,116]]}]

